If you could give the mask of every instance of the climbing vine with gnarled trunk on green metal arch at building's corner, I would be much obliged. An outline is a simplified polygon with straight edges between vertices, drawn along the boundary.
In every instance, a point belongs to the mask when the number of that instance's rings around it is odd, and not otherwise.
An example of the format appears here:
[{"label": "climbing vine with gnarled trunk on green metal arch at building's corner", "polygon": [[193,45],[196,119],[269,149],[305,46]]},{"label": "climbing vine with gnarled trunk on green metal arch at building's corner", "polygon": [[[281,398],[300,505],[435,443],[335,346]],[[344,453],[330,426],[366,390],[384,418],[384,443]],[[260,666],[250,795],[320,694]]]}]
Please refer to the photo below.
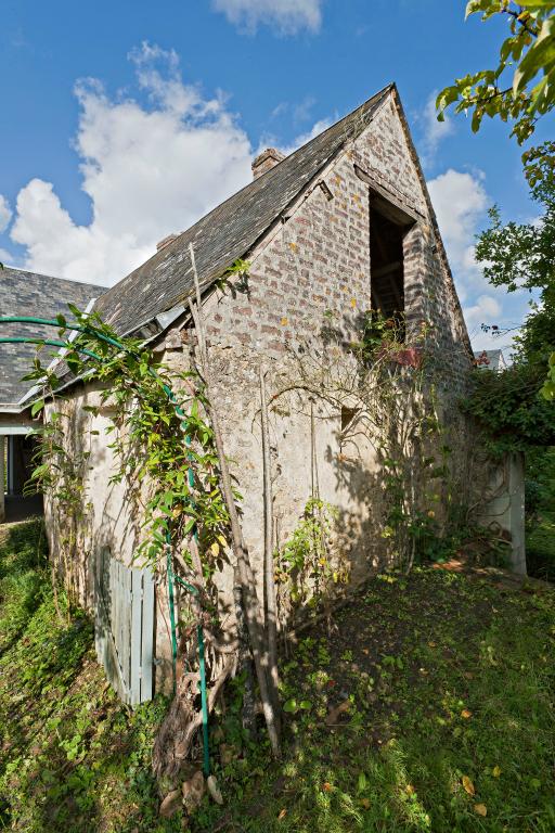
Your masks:
[{"label": "climbing vine with gnarled trunk on green metal arch at building's corner", "polygon": [[[152,566],[158,581],[167,571],[171,615],[173,574],[179,587],[189,593],[189,602],[184,604],[189,608],[189,627],[182,628],[180,661],[175,667],[177,696],[154,749],[154,767],[160,783],[164,774],[175,777],[179,772],[196,730],[206,727],[207,713],[214,708],[224,680],[236,668],[237,641],[233,631],[229,627],[224,629],[219,619],[217,589],[212,581],[215,573],[223,567],[230,542],[238,563],[241,604],[248,623],[248,641],[264,717],[272,749],[279,754],[273,705],[276,692],[269,689],[262,665],[262,620],[235,505],[240,496],[231,482],[217,415],[207,396],[210,369],[193,252],[191,259],[197,303],[191,302],[190,307],[198,336],[202,370],[194,364],[194,357],[192,369],[185,372],[163,364],[156,361],[144,343],[119,338],[96,315],[83,315],[70,307],[76,324],[68,323],[63,316],[57,318],[59,336],[64,339],[65,367],[61,367],[60,361],[43,367],[37,357],[35,368],[27,376],[44,394],[35,402],[34,414],[44,408],[47,413],[41,432],[42,460],[35,471],[35,479],[50,494],[60,517],[70,514],[74,504],[82,505],[85,499],[86,472],[81,465],[77,474],[81,488],[73,491],[67,478],[68,461],[73,458],[74,465],[77,460],[82,461],[86,467],[88,462],[86,454],[79,457],[83,446],[81,426],[76,428],[78,422],[74,420],[74,430],[64,434],[65,405],[56,410],[57,403],[63,401],[60,388],[69,371],[83,383],[94,383],[98,392],[98,403],[80,408],[88,412],[91,434],[99,433],[94,430],[94,419],[103,408],[109,410],[112,424],[106,433],[112,436],[109,448],[117,462],[112,482],[125,482],[126,501],[140,510],[133,513],[141,517],[141,542],[135,558]],[[75,333],[76,326],[79,334],[72,339],[67,333]],[[75,402],[67,402],[69,412],[72,405]],[[60,476],[61,472],[64,476]],[[73,482],[76,482],[75,477]],[[70,575],[66,576],[70,580]],[[178,592],[177,598],[182,595]],[[196,653],[196,644],[190,638],[194,632],[193,621],[198,631],[199,674],[191,672]],[[178,651],[176,642],[173,644],[176,658]],[[206,697],[203,694],[203,707],[198,712],[197,684],[204,679],[206,667],[211,687]],[[204,769],[208,774],[206,735],[204,745]],[[217,792],[215,784],[212,787]]]}]

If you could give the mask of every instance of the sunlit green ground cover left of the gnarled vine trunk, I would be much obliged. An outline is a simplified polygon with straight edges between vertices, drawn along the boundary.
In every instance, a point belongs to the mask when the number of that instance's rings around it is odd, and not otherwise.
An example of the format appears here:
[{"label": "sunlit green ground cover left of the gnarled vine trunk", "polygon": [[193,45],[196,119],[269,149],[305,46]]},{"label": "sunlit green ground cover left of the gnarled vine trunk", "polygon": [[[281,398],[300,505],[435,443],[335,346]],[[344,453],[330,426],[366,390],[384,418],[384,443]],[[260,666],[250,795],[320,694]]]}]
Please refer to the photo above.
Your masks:
[{"label": "sunlit green ground cover left of the gnarled vine trunk", "polygon": [[[0,535],[0,828],[177,833],[158,817],[151,773],[166,702],[122,706],[91,623],[57,617],[41,522]],[[63,593],[57,603],[68,614]]]}]

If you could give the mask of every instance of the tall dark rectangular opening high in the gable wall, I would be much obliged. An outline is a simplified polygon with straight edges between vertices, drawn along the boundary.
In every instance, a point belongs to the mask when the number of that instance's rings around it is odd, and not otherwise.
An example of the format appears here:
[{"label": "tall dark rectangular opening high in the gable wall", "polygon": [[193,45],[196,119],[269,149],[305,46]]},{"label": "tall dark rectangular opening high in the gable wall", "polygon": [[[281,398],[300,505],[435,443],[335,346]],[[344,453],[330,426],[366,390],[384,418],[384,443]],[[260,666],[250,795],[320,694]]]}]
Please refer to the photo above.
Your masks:
[{"label": "tall dark rectangular opening high in the gable wall", "polygon": [[405,227],[370,210],[372,309],[402,325],[404,313],[403,234]]}]

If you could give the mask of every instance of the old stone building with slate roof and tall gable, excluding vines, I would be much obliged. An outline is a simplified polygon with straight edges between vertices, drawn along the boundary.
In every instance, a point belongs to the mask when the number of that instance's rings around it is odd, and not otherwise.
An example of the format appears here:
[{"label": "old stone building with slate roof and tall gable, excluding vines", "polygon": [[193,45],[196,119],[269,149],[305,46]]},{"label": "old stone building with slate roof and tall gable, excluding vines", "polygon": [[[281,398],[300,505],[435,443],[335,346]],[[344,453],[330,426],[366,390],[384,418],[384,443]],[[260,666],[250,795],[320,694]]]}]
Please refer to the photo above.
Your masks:
[{"label": "old stone building with slate roof and tall gable, excluding vines", "polygon": [[[330,317],[346,363],[348,346],[360,337],[363,313],[371,308],[387,316],[403,313],[408,345],[423,323],[429,325],[426,346],[439,379],[437,411],[442,441],[451,447],[452,486],[450,494],[444,489],[437,496],[438,513],[448,511],[452,495],[461,504],[470,503],[476,444],[457,407],[474,356],[396,87],[385,88],[285,158],[266,151],[255,161],[254,175],[253,182],[188,231],[166,238],[156,254],[105,292],[94,309],[120,334],[151,338],[172,367],[185,369],[195,344],[188,309],[194,293],[189,252],[193,243],[216,379],[212,398],[244,498],[243,529],[259,576],[259,367],[263,362],[269,370],[273,393],[287,380],[293,355],[298,357],[307,344],[315,354],[326,348],[324,323]],[[231,279],[230,291],[223,292],[217,281],[238,258],[249,262],[248,280]],[[70,383],[65,395],[72,441],[77,450],[90,451],[82,561],[75,575],[82,600],[93,605],[95,580],[106,560],[131,563],[140,517],[131,484],[109,480],[114,458],[104,431],[111,425],[109,408],[98,415],[83,408],[100,401],[91,384]],[[341,430],[350,419],[346,409],[330,413],[309,399],[299,393],[288,407],[271,413],[280,539],[298,524],[317,472],[321,497],[337,508],[352,576],[361,578],[382,560],[385,470],[370,443],[362,440],[345,453]],[[62,534],[55,505],[48,507],[48,517],[55,551]],[[229,572],[225,581],[224,595]],[[155,652],[164,669],[169,643],[160,586],[157,592]]]}]

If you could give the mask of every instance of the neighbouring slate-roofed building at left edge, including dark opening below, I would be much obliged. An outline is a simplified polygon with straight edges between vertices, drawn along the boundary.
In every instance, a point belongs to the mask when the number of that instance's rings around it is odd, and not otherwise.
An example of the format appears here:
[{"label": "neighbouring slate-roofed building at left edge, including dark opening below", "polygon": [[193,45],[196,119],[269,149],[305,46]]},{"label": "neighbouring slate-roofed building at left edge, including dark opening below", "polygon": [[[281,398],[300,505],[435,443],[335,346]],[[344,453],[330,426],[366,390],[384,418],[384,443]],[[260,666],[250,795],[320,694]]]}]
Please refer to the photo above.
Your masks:
[{"label": "neighbouring slate-roofed building at left edge, including dark opening below", "polygon": [[[0,270],[0,317],[28,316],[55,318],[60,312],[70,317],[67,304],[86,309],[105,286],[76,283],[46,274],[4,267]],[[52,329],[37,324],[3,324],[0,338],[55,338]],[[41,350],[43,363],[49,363],[55,348]],[[31,344],[0,345],[0,484],[10,497],[21,496],[30,474],[34,451],[33,437],[27,437],[30,421],[25,413],[24,398],[30,383],[23,376],[33,370],[37,347]],[[3,471],[5,470],[5,475]],[[4,489],[0,487],[0,522],[4,516]]]}]

